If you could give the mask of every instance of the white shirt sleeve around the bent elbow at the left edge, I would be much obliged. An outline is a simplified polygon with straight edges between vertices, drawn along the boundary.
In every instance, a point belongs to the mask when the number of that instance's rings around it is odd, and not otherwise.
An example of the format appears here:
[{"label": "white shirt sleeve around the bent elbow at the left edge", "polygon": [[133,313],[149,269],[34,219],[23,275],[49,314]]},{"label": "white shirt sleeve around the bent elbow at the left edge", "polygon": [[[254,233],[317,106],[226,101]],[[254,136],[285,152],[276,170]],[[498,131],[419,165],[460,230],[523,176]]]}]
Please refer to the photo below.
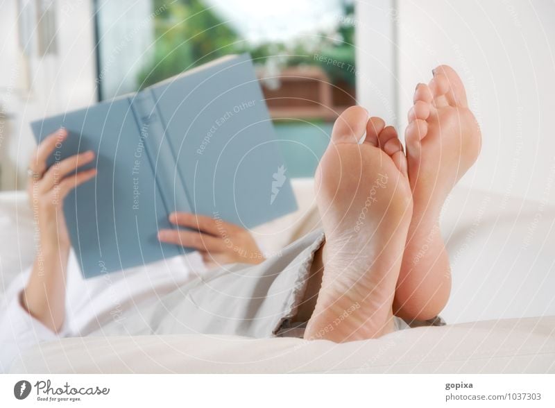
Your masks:
[{"label": "white shirt sleeve around the bent elbow at the left edge", "polygon": [[63,330],[58,334],[53,332],[26,312],[19,301],[23,289],[21,280],[12,282],[13,285],[0,306],[1,373],[6,373],[12,361],[27,348],[42,341],[56,340],[63,332]]}]

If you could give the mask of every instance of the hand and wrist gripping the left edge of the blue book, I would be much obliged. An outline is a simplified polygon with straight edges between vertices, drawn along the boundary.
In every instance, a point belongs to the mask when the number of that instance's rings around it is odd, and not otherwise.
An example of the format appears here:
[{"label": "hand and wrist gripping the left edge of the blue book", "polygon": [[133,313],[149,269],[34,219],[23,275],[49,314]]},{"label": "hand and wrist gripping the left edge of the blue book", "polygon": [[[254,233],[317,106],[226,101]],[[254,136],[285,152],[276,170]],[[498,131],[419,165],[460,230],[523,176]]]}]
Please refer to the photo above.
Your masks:
[{"label": "hand and wrist gripping the left edge of the blue book", "polygon": [[65,129],[47,136],[29,163],[33,175],[29,176],[27,193],[40,232],[40,245],[46,248],[69,248],[69,235],[62,212],[64,198],[96,174],[96,169],[74,174],[78,167],[92,162],[92,151],[71,156],[46,169],[46,160],[66,137]]}]

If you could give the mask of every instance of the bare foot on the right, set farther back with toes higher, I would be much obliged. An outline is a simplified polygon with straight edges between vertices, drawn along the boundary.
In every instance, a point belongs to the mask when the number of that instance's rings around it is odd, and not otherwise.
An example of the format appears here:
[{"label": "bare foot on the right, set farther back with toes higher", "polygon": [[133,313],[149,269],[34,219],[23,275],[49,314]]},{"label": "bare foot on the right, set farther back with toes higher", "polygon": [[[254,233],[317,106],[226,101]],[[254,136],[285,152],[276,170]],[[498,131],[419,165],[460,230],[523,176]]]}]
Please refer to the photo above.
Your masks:
[{"label": "bare foot on the right, set farther back with toes higher", "polygon": [[451,288],[438,225],[441,207],[481,147],[463,83],[451,67],[437,67],[429,85],[416,87],[405,140],[414,210],[394,310],[405,319],[425,320],[443,309]]}]

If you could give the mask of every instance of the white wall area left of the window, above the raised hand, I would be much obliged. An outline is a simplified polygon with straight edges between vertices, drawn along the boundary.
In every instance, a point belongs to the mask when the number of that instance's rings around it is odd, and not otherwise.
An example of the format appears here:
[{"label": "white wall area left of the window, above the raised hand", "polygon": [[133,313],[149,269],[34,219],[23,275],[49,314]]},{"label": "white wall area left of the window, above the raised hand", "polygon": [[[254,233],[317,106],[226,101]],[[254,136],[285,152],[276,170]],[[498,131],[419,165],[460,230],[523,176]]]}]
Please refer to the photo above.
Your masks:
[{"label": "white wall area left of the window, above the raised hand", "polygon": [[[0,113],[8,116],[1,126],[1,189],[24,187],[27,163],[35,148],[30,121],[96,101],[92,2],[58,0],[53,7],[57,52],[38,55],[34,30],[28,42],[29,56],[24,58],[18,46],[22,15],[17,1],[0,5]],[[31,24],[36,25],[36,19]]]}]

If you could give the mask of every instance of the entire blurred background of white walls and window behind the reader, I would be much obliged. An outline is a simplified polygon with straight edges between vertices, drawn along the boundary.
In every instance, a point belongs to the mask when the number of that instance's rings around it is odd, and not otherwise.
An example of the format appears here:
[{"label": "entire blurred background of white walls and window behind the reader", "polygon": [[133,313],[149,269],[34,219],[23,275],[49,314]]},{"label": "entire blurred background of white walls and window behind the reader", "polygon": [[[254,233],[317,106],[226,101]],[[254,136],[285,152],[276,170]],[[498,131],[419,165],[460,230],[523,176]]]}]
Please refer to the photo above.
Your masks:
[{"label": "entire blurred background of white walls and window behind the reader", "polygon": [[249,52],[290,176],[312,175],[353,103],[402,133],[414,86],[447,63],[484,133],[463,185],[554,203],[554,22],[545,0],[4,1],[0,189],[24,187],[29,121]]}]

